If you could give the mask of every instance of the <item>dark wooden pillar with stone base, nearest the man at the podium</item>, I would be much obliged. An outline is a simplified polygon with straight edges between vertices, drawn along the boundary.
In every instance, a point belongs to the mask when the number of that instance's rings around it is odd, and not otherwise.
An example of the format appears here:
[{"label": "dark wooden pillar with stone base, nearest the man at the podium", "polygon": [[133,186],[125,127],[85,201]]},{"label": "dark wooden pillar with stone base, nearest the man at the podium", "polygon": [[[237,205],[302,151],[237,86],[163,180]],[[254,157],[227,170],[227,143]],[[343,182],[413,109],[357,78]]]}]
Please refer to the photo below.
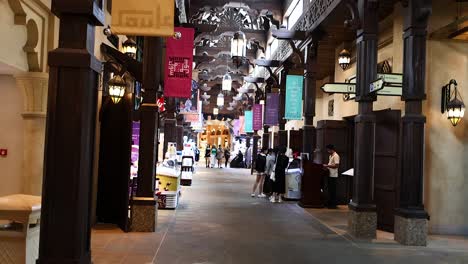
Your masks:
[{"label": "dark wooden pillar with stone base, nearest the man at the podium", "polygon": [[359,104],[355,118],[354,192],[349,204],[348,227],[357,238],[376,237],[377,213],[373,201],[375,115],[373,102],[376,96],[369,85],[377,78],[378,3],[359,0],[361,28],[356,40],[356,101]]}]

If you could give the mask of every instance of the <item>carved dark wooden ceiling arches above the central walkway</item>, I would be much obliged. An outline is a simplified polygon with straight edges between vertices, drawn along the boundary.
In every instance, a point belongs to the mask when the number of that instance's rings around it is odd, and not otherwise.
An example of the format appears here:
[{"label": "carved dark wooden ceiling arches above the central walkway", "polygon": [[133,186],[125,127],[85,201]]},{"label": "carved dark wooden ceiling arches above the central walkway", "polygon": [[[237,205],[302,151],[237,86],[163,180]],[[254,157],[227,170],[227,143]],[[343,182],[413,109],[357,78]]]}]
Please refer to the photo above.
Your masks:
[{"label": "carved dark wooden ceiling arches above the central walkway", "polygon": [[[282,19],[282,0],[192,0],[189,2],[188,23],[215,26],[214,30],[198,32],[195,37],[195,62],[201,93],[210,95],[203,105],[203,113],[211,114],[216,107],[216,97],[221,91],[222,77],[226,72],[233,79],[233,90],[225,96],[225,106],[220,114],[241,114],[255,92],[249,86],[250,95],[233,100],[243,84],[243,77],[253,72],[258,53],[265,53],[270,29],[277,29]],[[247,61],[240,65],[230,56],[231,39],[241,30],[247,39]],[[244,88],[245,89],[245,88]],[[234,105],[232,102],[237,102]],[[233,104],[232,108],[229,107]]]}]

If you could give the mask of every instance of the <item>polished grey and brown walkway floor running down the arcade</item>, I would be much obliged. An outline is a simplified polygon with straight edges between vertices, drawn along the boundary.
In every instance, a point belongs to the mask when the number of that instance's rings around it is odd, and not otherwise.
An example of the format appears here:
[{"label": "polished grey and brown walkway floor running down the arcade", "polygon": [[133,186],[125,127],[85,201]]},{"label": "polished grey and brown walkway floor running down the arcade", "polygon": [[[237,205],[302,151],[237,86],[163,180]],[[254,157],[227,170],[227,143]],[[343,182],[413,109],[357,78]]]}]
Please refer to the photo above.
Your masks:
[{"label": "polished grey and brown walkway floor running down the arcade", "polygon": [[177,210],[159,210],[155,233],[93,230],[95,264],[468,263],[468,239],[431,238],[404,247],[391,234],[355,241],[346,209],[304,210],[251,198],[248,170],[199,168]]}]

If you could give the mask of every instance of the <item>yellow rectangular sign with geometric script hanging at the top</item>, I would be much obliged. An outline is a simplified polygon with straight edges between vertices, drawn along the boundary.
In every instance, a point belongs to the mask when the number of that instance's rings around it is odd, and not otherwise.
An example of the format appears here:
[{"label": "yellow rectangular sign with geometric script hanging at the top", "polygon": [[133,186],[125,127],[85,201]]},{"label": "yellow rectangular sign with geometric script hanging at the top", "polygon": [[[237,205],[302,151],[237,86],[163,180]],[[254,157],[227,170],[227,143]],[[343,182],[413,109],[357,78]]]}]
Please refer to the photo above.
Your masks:
[{"label": "yellow rectangular sign with geometric script hanging at the top", "polygon": [[174,35],[174,0],[113,0],[112,32],[118,35]]}]

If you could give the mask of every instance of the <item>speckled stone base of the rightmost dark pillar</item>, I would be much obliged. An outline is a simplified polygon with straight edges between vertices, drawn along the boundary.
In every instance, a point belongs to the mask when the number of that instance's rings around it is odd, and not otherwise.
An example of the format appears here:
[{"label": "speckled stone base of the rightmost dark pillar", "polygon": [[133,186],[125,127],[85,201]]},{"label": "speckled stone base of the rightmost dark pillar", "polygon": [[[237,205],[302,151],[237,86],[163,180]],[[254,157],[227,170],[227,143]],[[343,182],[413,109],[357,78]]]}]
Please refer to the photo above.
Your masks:
[{"label": "speckled stone base of the rightmost dark pillar", "polygon": [[406,246],[427,245],[427,219],[395,215],[395,241]]}]

